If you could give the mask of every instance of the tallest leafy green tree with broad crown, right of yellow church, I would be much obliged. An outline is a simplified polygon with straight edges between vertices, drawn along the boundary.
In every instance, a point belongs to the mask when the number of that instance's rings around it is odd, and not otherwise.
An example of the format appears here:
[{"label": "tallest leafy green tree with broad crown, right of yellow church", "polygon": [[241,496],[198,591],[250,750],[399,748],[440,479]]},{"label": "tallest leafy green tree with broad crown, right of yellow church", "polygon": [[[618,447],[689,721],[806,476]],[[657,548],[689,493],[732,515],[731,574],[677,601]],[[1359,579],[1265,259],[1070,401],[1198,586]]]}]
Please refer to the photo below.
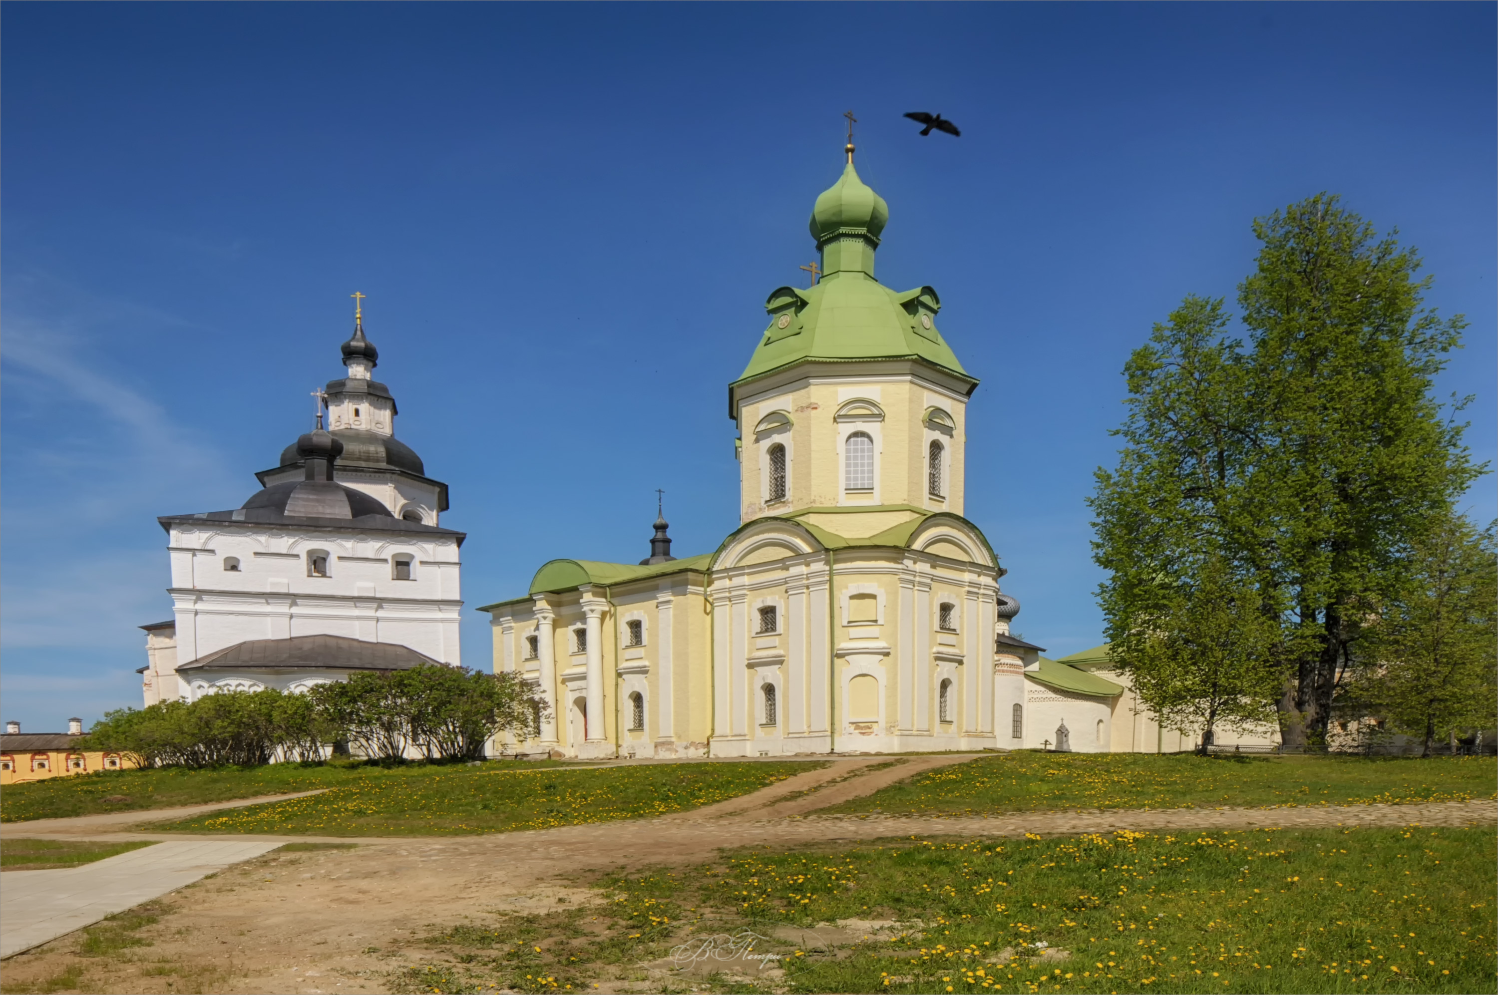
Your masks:
[{"label": "tallest leafy green tree with broad crown, right of yellow church", "polygon": [[1254,231],[1246,342],[1222,301],[1188,297],[1129,357],[1094,551],[1125,644],[1162,610],[1162,583],[1194,583],[1203,553],[1233,563],[1278,626],[1281,736],[1297,745],[1324,742],[1372,605],[1482,468],[1431,396],[1464,321],[1423,307],[1414,250],[1326,195]]}]

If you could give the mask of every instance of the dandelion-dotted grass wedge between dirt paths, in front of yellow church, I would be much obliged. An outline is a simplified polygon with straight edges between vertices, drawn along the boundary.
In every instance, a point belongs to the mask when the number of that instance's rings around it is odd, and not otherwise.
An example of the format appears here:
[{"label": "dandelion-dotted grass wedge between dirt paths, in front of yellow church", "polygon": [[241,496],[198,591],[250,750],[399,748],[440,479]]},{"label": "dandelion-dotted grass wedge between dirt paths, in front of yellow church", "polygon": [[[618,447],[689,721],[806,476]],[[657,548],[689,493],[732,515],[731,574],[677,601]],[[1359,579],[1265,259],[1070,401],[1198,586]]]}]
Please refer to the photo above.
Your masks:
[{"label": "dandelion-dotted grass wedge between dirt paths, in front of yellow church", "polygon": [[530,770],[485,764],[430,767],[419,778],[377,772],[324,794],[153,829],[318,836],[505,833],[665,815],[748,794],[821,766],[750,761]]}]

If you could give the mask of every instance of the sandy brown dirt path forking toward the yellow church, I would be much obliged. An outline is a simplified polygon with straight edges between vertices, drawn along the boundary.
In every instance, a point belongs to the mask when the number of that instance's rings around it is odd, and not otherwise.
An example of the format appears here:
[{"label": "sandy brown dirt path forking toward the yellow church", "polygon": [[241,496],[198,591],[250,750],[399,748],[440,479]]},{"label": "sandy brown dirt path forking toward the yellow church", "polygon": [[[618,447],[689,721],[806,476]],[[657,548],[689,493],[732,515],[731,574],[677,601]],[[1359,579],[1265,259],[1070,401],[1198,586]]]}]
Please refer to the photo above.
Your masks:
[{"label": "sandy brown dirt path forking toward the yellow church", "polygon": [[[965,757],[836,761],[753,796],[667,818],[566,826],[464,838],[360,839],[354,850],[273,853],[168,896],[172,914],[142,935],[151,959],[180,965],[168,988],[147,961],[90,974],[93,991],[120,994],[383,992],[406,944],[493,911],[586,902],[589,872],[712,859],[722,847],[807,845],[909,835],[1020,836],[1134,829],[1309,826],[1456,826],[1498,818],[1498,803],[1368,805],[1297,809],[1152,809],[1034,812],[993,818],[800,817]],[[870,770],[870,767],[878,767]],[[849,776],[852,775],[852,776]],[[846,778],[846,779],[843,779]],[[809,794],[798,794],[810,791]],[[794,797],[792,797],[794,796]],[[748,808],[755,802],[759,808]],[[739,803],[739,805],[734,805]],[[169,838],[142,833],[142,836]],[[246,839],[246,836],[237,836]],[[306,838],[301,838],[306,839]],[[45,979],[76,962],[64,937],[6,962],[7,983]],[[418,956],[412,952],[412,956]],[[88,962],[90,970],[97,961]]]}]

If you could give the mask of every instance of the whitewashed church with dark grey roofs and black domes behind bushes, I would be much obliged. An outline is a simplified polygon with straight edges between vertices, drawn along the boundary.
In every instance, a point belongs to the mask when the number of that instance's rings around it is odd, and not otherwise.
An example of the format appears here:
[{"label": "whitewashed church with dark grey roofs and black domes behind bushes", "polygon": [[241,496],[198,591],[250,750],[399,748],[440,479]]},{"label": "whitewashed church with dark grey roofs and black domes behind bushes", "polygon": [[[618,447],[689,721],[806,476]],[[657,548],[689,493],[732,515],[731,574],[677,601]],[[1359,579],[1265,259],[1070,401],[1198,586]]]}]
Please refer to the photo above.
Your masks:
[{"label": "whitewashed church with dark grey roofs and black domes behind bushes", "polygon": [[163,515],[172,619],[147,631],[145,704],[220,689],[301,689],[357,670],[461,662],[448,487],[394,438],[363,319],[318,427],[231,511]]}]

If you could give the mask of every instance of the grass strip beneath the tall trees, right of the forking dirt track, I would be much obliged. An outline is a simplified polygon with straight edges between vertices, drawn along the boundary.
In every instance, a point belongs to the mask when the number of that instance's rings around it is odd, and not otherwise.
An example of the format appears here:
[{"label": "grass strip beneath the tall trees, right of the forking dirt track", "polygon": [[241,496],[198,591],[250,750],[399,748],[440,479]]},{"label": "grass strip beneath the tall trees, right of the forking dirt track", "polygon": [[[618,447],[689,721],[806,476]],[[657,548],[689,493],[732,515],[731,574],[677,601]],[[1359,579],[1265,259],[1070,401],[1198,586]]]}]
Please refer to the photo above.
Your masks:
[{"label": "grass strip beneath the tall trees, right of the forking dirt track", "polygon": [[1076,808],[1281,808],[1491,799],[1492,757],[1013,752],[942,767],[827,812],[983,815]]}]

